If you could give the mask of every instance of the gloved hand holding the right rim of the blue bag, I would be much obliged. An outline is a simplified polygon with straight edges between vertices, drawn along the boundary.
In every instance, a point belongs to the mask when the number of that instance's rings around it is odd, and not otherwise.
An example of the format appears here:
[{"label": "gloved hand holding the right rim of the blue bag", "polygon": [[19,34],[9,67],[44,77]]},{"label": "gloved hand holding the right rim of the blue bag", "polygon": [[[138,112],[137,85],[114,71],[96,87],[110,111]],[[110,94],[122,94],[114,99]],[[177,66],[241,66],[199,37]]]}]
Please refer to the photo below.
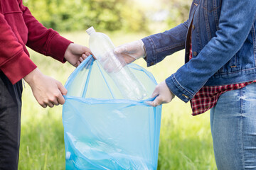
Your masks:
[{"label": "gloved hand holding the right rim of the blue bag", "polygon": [[162,103],[169,103],[174,98],[174,94],[171,93],[169,87],[166,85],[166,81],[162,81],[160,84],[156,86],[151,95],[151,98],[154,98],[154,101],[148,101],[147,103],[150,106],[159,106]]}]

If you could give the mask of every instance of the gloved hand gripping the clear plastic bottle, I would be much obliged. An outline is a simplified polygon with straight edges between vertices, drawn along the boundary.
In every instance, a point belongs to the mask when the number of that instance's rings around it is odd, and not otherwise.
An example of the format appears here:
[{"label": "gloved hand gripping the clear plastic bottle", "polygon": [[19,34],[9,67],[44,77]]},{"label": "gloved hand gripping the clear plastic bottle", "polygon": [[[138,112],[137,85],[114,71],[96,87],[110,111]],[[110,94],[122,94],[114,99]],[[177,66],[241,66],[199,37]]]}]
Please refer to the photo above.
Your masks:
[{"label": "gloved hand gripping the clear plastic bottle", "polygon": [[115,47],[114,54],[118,57],[123,57],[126,64],[134,62],[134,60],[137,60],[141,57],[146,57],[144,43],[142,42],[142,40],[128,42],[124,45]]}]

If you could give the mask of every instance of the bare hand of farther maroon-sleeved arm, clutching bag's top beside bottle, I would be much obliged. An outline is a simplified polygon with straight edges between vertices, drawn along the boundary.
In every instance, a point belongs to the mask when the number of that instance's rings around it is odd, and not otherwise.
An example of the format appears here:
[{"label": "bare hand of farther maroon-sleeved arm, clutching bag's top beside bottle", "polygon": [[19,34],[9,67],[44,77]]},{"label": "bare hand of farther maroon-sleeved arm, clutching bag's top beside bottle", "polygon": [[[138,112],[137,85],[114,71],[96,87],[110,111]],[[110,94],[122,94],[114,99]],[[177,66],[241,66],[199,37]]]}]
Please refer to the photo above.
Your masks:
[{"label": "bare hand of farther maroon-sleeved arm, clutching bag's top beside bottle", "polygon": [[65,60],[67,60],[70,64],[78,67],[78,65],[91,54],[92,52],[89,48],[75,43],[71,43],[70,45],[68,45],[64,57]]}]

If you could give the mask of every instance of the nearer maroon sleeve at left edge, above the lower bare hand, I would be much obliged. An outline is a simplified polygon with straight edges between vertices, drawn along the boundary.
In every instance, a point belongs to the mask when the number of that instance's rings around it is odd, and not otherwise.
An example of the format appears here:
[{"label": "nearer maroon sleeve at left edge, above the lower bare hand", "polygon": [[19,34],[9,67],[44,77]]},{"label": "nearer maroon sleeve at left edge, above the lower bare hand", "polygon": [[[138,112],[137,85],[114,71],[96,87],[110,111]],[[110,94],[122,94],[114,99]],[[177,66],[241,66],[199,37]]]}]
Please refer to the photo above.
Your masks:
[{"label": "nearer maroon sleeve at left edge, above the lower bare hand", "polygon": [[18,42],[2,13],[0,13],[0,69],[12,84],[16,84],[36,69],[36,65],[23,50],[23,45]]}]

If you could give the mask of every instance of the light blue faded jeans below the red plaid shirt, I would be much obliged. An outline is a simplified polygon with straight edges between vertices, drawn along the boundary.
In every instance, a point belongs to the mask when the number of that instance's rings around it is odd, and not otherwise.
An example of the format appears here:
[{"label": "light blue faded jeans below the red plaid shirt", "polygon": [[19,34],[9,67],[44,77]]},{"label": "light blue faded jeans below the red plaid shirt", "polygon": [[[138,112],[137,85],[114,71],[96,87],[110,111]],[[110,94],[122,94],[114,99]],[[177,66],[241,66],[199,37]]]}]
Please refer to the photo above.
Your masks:
[{"label": "light blue faded jeans below the red plaid shirt", "polygon": [[222,94],[210,128],[219,170],[256,169],[256,83]]}]

